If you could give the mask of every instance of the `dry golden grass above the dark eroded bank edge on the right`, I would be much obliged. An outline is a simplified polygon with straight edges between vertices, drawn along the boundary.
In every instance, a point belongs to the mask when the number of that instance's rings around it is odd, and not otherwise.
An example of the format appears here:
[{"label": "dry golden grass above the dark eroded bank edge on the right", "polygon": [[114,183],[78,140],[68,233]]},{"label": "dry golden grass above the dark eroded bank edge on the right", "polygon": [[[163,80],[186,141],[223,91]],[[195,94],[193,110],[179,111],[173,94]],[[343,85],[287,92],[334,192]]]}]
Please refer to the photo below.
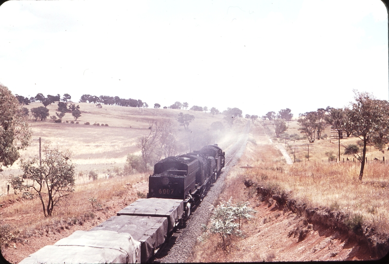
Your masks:
[{"label": "dry golden grass above the dark eroded bank edge on the right", "polygon": [[[267,122],[269,125],[269,122]],[[296,121],[289,123],[286,133],[298,133]],[[331,131],[327,128],[327,135]],[[273,141],[277,141],[273,137]],[[301,162],[284,165],[279,162],[267,161],[265,164],[256,162],[263,157],[262,149],[257,149],[257,155],[250,157],[251,166],[255,169],[247,172],[247,177],[257,180],[266,186],[280,188],[290,193],[293,198],[305,202],[312,207],[327,207],[331,210],[342,211],[353,216],[361,215],[364,223],[374,225],[381,232],[389,232],[389,164],[388,153],[373,146],[368,147],[368,163],[365,165],[363,181],[358,180],[360,163],[353,162],[353,156],[343,155],[344,148],[352,143],[358,143],[358,138],[342,139],[341,162],[329,162],[325,153],[334,151],[338,156],[338,142],[327,138],[316,140],[310,150],[310,158],[305,158],[307,149],[303,150],[305,140],[287,141],[289,156],[293,159],[294,148],[299,147],[297,158]],[[283,142],[284,140],[279,140]],[[266,150],[267,153],[267,150]],[[385,157],[386,162],[382,162]],[[374,161],[378,158],[381,161]],[[349,159],[350,161],[347,161]],[[345,160],[345,162],[343,162]],[[249,161],[248,161],[249,162]],[[278,168],[278,169],[277,169]]]}]

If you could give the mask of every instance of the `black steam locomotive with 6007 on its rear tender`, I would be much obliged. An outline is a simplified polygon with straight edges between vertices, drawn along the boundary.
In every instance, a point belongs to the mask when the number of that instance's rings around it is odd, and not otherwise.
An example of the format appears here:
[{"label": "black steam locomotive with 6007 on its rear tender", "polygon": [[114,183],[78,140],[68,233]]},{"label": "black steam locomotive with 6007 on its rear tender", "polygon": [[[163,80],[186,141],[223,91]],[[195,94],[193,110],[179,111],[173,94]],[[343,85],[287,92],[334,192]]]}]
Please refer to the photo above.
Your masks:
[{"label": "black steam locomotive with 6007 on its rear tender", "polygon": [[191,207],[202,201],[224,164],[225,153],[217,145],[162,159],[154,165],[154,174],[149,176],[147,197],[183,200],[185,218],[188,218]]}]

